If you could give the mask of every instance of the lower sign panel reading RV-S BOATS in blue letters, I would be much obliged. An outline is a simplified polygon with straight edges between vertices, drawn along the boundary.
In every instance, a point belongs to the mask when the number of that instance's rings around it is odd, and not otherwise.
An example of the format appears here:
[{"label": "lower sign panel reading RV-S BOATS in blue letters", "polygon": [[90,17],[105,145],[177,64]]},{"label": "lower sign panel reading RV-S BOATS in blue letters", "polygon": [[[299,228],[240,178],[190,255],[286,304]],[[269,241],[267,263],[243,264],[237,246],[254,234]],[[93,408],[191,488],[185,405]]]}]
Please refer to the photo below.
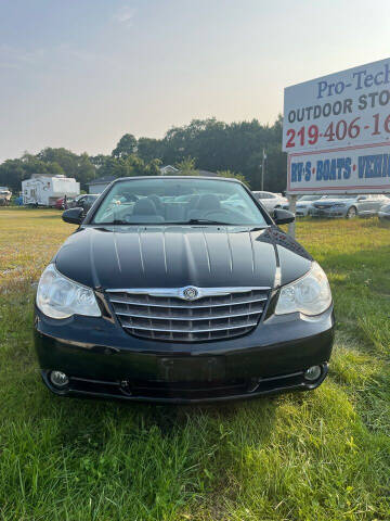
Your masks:
[{"label": "lower sign panel reading RV-S BOATS in blue letters", "polygon": [[390,192],[390,147],[362,144],[288,154],[287,171],[291,194]]}]

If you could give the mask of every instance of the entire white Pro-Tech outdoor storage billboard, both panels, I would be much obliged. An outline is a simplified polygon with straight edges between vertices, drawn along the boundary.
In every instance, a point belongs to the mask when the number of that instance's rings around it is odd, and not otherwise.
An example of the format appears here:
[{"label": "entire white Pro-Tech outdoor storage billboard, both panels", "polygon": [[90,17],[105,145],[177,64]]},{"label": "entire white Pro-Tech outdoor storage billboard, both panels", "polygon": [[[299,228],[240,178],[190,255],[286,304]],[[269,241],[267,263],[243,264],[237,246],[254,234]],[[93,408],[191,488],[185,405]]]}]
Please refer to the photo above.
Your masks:
[{"label": "entire white Pro-Tech outdoor storage billboard, both panels", "polygon": [[287,87],[283,150],[288,191],[390,191],[390,59]]}]

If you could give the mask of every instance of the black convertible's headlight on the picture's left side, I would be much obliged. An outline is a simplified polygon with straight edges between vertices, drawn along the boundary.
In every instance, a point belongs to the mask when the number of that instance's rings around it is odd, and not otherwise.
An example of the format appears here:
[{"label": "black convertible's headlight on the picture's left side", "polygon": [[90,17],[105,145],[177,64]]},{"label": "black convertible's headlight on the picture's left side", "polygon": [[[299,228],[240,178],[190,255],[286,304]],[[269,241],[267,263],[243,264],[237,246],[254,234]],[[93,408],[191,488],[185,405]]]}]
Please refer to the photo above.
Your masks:
[{"label": "black convertible's headlight on the picture's left side", "polygon": [[53,264],[49,264],[39,280],[37,306],[51,318],[102,315],[93,291],[61,275]]}]

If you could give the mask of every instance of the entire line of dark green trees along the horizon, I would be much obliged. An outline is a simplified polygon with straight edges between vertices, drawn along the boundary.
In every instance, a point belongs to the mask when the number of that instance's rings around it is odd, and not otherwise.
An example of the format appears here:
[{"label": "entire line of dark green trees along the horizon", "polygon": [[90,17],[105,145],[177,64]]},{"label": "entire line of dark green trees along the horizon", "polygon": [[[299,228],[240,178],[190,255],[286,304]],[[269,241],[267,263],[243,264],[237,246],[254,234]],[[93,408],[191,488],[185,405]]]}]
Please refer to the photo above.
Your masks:
[{"label": "entire line of dark green trees along the horizon", "polygon": [[154,176],[161,165],[174,165],[181,174],[197,169],[238,177],[252,190],[260,189],[263,151],[266,154],[264,190],[281,192],[286,188],[286,154],[282,152],[283,118],[273,125],[257,119],[226,124],[216,118],[193,119],[172,127],[161,139],[122,136],[112,154],[75,154],[64,148],[47,148],[38,154],[0,164],[0,186],[13,192],[31,174],[75,177],[81,188],[98,177]]}]

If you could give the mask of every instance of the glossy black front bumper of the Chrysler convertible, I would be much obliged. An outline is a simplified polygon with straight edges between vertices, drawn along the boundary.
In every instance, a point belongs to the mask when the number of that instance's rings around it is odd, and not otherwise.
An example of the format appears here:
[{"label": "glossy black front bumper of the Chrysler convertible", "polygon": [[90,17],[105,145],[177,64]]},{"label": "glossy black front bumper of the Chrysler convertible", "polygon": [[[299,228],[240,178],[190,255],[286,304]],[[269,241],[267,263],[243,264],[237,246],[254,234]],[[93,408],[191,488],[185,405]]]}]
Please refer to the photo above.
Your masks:
[{"label": "glossy black front bumper of the Chrysler convertible", "polygon": [[[333,307],[315,318],[271,316],[244,336],[194,344],[138,339],[104,318],[58,321],[36,310],[35,321],[41,374],[54,393],[174,404],[315,389],[333,339]],[[306,381],[314,365],[321,377]],[[68,374],[66,389],[51,384],[51,370]]]}]

